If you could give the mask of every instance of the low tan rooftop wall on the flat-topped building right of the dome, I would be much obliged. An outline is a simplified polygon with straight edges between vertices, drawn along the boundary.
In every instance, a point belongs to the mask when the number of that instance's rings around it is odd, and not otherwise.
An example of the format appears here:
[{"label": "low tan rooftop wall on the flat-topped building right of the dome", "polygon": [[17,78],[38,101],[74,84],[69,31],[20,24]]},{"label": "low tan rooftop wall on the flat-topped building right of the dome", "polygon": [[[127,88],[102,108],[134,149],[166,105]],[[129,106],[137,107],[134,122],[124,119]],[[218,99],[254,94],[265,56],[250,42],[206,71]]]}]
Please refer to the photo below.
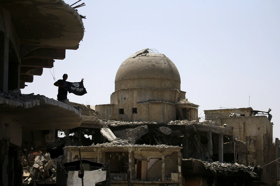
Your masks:
[{"label": "low tan rooftop wall on the flat-topped building right of the dome", "polygon": [[241,116],[251,116],[253,108],[234,108],[234,109],[217,109],[217,110],[204,110],[205,120],[215,120],[216,117],[226,118],[230,113],[238,113]]}]

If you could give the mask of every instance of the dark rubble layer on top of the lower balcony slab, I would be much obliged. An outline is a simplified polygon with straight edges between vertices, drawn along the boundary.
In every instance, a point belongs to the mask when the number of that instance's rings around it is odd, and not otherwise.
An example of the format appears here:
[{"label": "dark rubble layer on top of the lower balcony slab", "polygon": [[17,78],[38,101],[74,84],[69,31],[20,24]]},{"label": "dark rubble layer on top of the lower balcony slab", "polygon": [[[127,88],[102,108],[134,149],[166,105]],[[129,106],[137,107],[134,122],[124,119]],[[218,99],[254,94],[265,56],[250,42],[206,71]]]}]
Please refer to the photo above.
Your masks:
[{"label": "dark rubble layer on top of the lower balcony slab", "polygon": [[20,89],[15,89],[13,91],[8,91],[8,92],[2,92],[0,90],[0,97],[16,102],[29,102],[29,101],[39,100],[39,97],[46,97],[46,96],[40,94],[34,95],[34,93],[21,94]]}]

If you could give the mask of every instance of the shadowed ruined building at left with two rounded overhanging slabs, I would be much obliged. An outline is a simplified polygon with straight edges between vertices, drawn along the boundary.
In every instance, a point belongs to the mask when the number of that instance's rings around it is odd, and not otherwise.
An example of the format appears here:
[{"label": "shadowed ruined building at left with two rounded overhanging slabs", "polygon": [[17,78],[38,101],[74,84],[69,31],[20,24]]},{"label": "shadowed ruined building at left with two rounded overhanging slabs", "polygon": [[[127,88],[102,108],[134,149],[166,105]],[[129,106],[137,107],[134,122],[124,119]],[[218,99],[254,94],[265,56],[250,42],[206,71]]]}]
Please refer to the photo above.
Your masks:
[{"label": "shadowed ruined building at left with two rounded overhanging slabs", "polygon": [[[66,50],[79,48],[82,19],[62,0],[1,1],[0,16],[0,185],[22,185],[22,180],[34,185],[41,179],[55,183],[56,163],[45,158],[33,164],[34,158],[46,156],[55,130],[79,126],[82,114],[20,89],[42,75],[43,68],[52,68],[54,60],[63,60]],[[40,157],[32,155],[38,151]]]}]

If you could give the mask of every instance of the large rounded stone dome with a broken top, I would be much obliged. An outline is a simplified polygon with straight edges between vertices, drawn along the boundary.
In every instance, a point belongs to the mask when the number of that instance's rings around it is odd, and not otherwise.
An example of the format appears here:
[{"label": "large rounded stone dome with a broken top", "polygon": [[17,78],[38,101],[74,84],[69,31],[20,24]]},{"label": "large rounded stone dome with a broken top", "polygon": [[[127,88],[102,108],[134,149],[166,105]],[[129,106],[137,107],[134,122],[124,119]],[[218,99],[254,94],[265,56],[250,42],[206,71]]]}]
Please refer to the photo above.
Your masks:
[{"label": "large rounded stone dome with a broken top", "polygon": [[180,90],[175,64],[165,55],[150,51],[143,49],[124,60],[116,74],[115,91],[135,87]]}]

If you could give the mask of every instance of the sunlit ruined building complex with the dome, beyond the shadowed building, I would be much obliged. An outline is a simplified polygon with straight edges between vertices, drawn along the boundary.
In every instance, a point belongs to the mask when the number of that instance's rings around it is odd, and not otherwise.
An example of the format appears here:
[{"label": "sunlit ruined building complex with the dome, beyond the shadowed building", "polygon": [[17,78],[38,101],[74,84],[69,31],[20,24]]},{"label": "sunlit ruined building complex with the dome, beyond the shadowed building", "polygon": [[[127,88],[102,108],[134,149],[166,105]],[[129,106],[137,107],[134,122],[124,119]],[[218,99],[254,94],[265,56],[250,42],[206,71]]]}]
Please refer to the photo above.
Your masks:
[{"label": "sunlit ruined building complex with the dome, beyond the shadowed building", "polygon": [[120,65],[110,104],[70,103],[81,125],[56,130],[48,152],[63,155],[62,164],[110,164],[103,185],[277,185],[270,111],[205,110],[203,120],[180,83],[166,55],[136,52]]}]

